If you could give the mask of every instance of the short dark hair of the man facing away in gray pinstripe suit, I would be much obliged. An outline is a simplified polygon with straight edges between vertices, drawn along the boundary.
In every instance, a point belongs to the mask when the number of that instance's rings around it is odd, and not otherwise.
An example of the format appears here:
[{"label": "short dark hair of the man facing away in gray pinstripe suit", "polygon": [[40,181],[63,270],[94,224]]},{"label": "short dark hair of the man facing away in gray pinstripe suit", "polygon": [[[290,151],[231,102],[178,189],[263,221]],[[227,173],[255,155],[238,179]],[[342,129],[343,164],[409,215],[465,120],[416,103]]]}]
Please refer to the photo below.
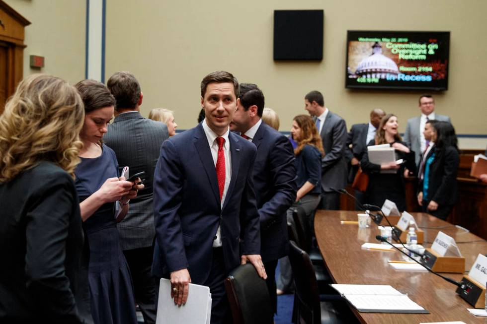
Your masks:
[{"label": "short dark hair of the man facing away in gray pinstripe suit", "polygon": [[108,79],[106,86],[115,97],[115,110],[131,109],[140,99],[140,84],[134,74],[127,71],[116,72]]}]

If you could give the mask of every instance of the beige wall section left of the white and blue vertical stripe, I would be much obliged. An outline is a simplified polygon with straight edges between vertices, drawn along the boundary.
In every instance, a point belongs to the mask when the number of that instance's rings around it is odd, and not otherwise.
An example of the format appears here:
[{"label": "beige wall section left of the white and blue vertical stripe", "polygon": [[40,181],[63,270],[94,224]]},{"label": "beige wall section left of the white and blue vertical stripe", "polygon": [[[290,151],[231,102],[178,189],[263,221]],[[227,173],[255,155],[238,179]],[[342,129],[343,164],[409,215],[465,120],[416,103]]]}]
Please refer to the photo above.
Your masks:
[{"label": "beige wall section left of the white and blue vertical stripe", "polygon": [[[6,2],[31,22],[25,27],[24,76],[42,72],[72,83],[84,78],[86,1]],[[44,67],[30,68],[30,55],[43,56]]]}]

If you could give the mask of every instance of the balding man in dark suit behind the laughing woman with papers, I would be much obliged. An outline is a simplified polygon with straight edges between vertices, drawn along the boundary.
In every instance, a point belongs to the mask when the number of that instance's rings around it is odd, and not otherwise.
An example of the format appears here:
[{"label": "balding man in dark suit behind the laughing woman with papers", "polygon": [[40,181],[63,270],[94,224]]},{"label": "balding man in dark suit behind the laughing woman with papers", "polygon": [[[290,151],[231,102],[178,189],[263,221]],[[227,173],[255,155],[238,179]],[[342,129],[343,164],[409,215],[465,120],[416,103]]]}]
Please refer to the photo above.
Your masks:
[{"label": "balding man in dark suit behind the laughing woman with papers", "polygon": [[[370,121],[367,124],[352,125],[350,132],[348,132],[345,152],[347,158],[350,160],[348,164],[348,182],[352,183],[360,166],[360,159],[367,149],[367,143],[374,139],[376,130],[379,127],[382,117],[386,113],[380,108],[376,108],[370,112]],[[361,191],[355,190],[355,197],[361,203],[365,203],[365,194]],[[358,205],[355,206],[357,209]]]}]

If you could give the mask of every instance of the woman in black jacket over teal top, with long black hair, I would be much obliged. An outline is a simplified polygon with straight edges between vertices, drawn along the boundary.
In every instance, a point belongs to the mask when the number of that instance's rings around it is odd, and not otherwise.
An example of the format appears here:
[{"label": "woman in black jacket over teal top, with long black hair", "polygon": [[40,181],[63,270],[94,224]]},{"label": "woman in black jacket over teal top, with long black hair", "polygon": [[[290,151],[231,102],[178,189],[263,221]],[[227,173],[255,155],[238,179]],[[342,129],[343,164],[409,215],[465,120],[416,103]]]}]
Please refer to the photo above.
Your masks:
[{"label": "woman in black jacket over teal top, with long black hair", "polygon": [[433,146],[421,158],[417,200],[423,212],[444,220],[458,199],[458,140],[450,123],[436,121],[431,126]]}]

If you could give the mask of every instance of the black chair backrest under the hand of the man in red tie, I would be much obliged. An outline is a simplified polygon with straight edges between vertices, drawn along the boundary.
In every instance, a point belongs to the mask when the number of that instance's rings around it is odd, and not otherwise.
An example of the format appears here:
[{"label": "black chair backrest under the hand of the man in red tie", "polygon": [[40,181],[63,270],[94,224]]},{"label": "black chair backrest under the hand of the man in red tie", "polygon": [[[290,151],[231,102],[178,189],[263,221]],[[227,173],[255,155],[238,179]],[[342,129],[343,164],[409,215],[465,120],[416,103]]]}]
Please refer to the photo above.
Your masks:
[{"label": "black chair backrest under the hand of the man in red tie", "polygon": [[225,279],[234,324],[272,324],[269,291],[265,280],[259,277],[251,263],[234,269]]}]

